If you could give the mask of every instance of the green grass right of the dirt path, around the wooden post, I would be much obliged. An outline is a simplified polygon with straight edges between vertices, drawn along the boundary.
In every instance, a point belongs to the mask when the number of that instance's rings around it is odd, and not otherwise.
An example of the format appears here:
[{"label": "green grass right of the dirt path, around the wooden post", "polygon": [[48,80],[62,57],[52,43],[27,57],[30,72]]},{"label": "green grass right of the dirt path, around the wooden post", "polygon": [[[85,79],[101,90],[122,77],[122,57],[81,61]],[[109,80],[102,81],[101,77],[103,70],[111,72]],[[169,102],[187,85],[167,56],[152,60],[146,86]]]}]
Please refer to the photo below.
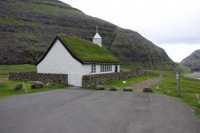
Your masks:
[{"label": "green grass right of the dirt path, around the wooden post", "polygon": [[[154,92],[156,94],[163,94],[167,96],[177,97],[181,101],[189,104],[194,108],[198,117],[200,117],[200,104],[198,104],[198,100],[196,97],[196,93],[200,96],[200,80],[190,79],[183,77],[181,74],[180,77],[180,88],[181,88],[181,96],[177,95],[177,82],[174,72],[167,71],[154,71],[156,73],[163,74],[163,80],[154,85]],[[159,90],[156,87],[159,86]],[[164,93],[164,90],[170,90],[171,93]]]}]

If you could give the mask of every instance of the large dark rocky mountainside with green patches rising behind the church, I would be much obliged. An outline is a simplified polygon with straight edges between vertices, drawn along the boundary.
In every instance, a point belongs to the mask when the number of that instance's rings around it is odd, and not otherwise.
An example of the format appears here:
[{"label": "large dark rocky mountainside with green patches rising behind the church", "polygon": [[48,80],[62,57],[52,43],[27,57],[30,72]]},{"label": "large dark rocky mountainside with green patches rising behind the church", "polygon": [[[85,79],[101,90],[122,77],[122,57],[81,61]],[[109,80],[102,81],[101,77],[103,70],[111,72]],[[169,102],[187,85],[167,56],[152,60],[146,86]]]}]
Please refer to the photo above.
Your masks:
[{"label": "large dark rocky mountainside with green patches rising behind the church", "polygon": [[36,63],[60,33],[92,41],[96,25],[103,46],[124,65],[151,69],[174,67],[163,49],[139,33],[88,16],[58,0],[0,1],[0,64]]}]

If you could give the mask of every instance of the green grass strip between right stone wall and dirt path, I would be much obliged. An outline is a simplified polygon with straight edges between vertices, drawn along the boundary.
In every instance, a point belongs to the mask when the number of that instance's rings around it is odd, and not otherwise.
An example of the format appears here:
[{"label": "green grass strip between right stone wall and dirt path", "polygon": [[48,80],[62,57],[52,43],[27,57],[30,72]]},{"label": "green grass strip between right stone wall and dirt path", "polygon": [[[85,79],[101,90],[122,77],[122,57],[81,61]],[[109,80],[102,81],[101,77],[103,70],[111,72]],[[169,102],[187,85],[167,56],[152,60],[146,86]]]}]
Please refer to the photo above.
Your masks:
[{"label": "green grass strip between right stone wall and dirt path", "polygon": [[[113,82],[104,84],[104,86],[107,88],[110,88],[112,86],[121,88],[121,87],[131,86],[140,81],[144,81],[144,80],[148,80],[148,79],[152,79],[152,78],[155,78],[155,77],[149,76],[149,75],[137,76],[137,77],[132,77],[132,78],[128,78],[128,79],[113,81]],[[126,81],[126,83],[123,84],[123,81]]]}]

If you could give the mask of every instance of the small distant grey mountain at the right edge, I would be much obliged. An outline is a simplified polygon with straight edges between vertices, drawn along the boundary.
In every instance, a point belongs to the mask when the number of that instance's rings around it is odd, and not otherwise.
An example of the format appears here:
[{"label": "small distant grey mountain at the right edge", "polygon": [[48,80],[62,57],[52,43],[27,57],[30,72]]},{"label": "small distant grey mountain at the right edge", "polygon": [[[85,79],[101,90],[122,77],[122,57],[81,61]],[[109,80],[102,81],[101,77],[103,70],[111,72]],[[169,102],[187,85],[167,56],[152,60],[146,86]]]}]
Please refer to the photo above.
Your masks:
[{"label": "small distant grey mountain at the right edge", "polygon": [[200,71],[200,49],[183,59],[181,64],[190,67],[193,71]]}]

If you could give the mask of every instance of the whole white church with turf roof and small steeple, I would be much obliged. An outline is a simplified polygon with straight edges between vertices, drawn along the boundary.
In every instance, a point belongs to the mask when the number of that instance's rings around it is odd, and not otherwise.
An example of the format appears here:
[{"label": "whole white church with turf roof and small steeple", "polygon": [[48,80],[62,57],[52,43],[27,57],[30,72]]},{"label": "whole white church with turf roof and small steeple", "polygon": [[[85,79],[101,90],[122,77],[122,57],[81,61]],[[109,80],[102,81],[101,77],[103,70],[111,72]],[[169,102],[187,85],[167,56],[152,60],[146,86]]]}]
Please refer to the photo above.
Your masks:
[{"label": "whole white church with turf roof and small steeple", "polygon": [[36,65],[37,73],[68,74],[68,84],[73,86],[82,86],[83,75],[120,71],[118,59],[102,48],[98,31],[93,43],[67,35],[56,36]]}]

